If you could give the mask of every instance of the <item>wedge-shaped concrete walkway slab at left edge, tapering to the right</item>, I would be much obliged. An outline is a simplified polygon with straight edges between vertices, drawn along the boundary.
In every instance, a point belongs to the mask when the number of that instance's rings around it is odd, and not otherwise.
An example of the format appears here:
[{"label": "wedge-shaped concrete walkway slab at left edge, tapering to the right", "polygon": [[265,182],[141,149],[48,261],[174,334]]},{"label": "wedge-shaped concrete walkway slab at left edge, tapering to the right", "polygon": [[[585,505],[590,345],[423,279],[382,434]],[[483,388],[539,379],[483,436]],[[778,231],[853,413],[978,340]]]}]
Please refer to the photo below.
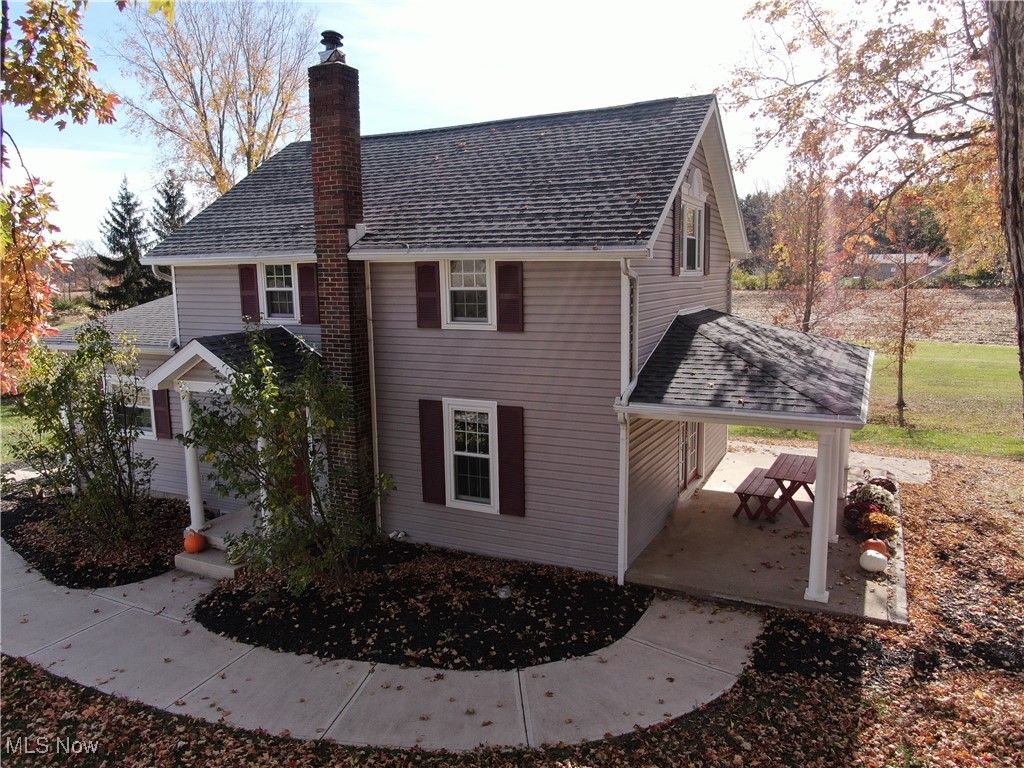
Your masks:
[{"label": "wedge-shaped concrete walkway slab at left edge, tapering to the right", "polygon": [[0,649],[27,656],[128,610],[82,590],[33,582],[3,593]]}]

